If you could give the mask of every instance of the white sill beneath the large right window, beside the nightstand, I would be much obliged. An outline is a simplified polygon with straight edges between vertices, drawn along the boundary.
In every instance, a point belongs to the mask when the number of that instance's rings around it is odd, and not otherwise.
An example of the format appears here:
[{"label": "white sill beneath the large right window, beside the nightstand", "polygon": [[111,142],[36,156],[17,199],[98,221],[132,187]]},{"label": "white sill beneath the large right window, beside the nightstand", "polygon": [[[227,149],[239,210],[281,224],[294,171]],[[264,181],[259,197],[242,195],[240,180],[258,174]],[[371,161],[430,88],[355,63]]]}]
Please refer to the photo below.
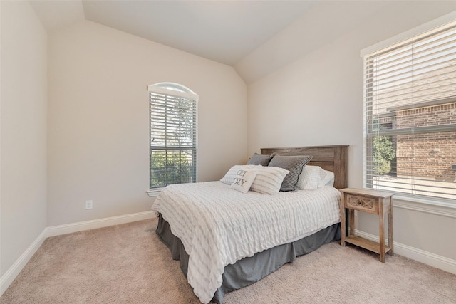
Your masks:
[{"label": "white sill beneath the large right window, beside the nightstand", "polygon": [[395,194],[395,196],[393,196],[393,206],[456,219],[456,204],[445,201],[419,199]]}]

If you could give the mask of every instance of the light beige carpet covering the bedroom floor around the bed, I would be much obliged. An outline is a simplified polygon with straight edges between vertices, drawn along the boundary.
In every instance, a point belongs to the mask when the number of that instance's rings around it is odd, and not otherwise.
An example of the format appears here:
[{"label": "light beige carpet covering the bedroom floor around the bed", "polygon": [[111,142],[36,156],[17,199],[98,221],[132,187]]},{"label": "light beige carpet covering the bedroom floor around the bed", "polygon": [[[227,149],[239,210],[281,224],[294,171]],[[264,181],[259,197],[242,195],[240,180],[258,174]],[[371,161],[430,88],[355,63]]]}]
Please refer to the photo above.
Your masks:
[{"label": "light beige carpet covering the bedroom floor around the bed", "polygon": [[[53,236],[0,298],[13,303],[199,303],[157,219]],[[456,303],[456,276],[338,242],[299,257],[224,304]]]}]

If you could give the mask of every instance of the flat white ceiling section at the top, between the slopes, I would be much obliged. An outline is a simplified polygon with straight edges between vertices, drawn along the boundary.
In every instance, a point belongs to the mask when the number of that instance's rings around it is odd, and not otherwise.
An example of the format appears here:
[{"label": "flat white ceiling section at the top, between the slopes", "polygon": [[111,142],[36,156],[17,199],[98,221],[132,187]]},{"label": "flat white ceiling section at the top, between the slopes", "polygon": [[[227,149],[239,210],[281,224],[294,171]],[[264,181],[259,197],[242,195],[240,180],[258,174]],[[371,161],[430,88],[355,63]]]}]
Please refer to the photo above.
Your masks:
[{"label": "flat white ceiling section at the top, between the slopes", "polygon": [[315,1],[88,1],[87,20],[234,65]]}]

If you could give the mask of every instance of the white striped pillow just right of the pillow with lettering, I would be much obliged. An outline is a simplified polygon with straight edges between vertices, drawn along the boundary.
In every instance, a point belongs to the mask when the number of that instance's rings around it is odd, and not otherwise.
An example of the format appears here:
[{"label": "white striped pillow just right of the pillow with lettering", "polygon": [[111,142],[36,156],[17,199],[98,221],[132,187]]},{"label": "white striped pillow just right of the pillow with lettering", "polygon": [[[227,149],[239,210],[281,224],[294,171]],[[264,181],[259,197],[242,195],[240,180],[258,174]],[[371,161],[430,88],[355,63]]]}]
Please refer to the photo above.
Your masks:
[{"label": "white striped pillow just right of the pillow with lettering", "polygon": [[289,171],[279,167],[255,166],[257,177],[250,187],[250,190],[263,194],[277,194],[280,191],[284,177]]}]

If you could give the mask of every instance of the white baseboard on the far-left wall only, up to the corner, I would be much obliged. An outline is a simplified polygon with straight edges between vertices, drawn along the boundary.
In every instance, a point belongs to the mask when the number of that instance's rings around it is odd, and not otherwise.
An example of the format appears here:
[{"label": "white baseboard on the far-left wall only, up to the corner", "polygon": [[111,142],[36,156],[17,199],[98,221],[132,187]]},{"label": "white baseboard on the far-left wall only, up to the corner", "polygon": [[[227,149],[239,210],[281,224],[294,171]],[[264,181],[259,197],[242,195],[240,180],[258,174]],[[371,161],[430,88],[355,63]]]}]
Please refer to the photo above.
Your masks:
[{"label": "white baseboard on the far-left wall only, up to the corner", "polygon": [[30,261],[33,254],[36,253],[38,248],[40,248],[43,241],[46,239],[46,228],[43,229],[41,234],[31,243],[30,246],[24,251],[24,253],[19,256],[19,258],[14,262],[14,264],[0,277],[0,296],[8,289],[9,285],[13,283],[16,276],[19,275],[22,268],[26,266],[26,263]]}]

